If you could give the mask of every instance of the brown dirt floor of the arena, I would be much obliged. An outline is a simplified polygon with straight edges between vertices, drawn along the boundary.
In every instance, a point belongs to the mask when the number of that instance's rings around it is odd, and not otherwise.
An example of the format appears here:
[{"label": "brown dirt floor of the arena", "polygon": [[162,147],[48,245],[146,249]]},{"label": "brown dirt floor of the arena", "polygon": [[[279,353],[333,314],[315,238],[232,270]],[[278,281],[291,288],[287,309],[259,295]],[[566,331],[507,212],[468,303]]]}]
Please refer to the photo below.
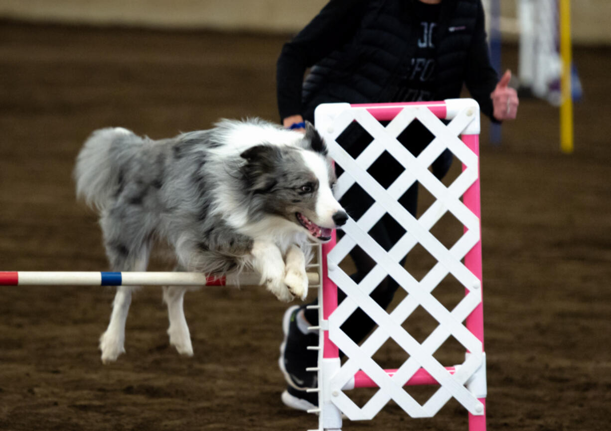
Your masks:
[{"label": "brown dirt floor of the arena", "polygon": [[[284,40],[0,23],[0,270],[106,270],[96,217],[71,180],[84,139],[103,126],[161,138],[220,117],[277,120]],[[558,111],[541,101],[521,101],[500,147],[483,120],[490,430],[611,429],[611,51],[574,56],[585,87],[574,154],[558,151]],[[514,48],[504,59],[516,69]],[[286,306],[264,289],[188,294],[193,358],[170,348],[161,293],[143,289],[127,353],[103,366],[97,339],[112,297],[110,288],[2,288],[0,429],[316,427],[280,403]],[[433,419],[389,405],[345,429],[466,430],[466,418],[457,402]]]}]

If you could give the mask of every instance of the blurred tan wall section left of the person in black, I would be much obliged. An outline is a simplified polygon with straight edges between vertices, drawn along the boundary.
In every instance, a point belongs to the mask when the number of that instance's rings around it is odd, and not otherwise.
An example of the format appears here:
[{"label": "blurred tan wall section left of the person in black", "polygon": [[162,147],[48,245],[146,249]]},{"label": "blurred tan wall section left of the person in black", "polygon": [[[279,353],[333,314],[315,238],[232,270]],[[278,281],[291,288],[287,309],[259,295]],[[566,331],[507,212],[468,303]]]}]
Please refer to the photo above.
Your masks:
[{"label": "blurred tan wall section left of the person in black", "polygon": [[0,0],[19,19],[291,32],[327,0]]}]

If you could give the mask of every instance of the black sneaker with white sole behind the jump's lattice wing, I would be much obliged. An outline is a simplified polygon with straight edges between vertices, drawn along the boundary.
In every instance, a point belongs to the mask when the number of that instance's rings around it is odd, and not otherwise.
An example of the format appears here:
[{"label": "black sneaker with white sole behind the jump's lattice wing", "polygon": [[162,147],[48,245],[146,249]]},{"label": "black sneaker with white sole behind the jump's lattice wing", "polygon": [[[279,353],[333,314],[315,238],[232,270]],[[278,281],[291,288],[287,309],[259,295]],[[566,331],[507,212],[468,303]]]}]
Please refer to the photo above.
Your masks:
[{"label": "black sneaker with white sole behind the jump's lattice wing", "polygon": [[297,389],[306,394],[305,389],[317,386],[318,373],[305,369],[314,368],[318,364],[318,350],[307,349],[307,346],[318,346],[318,334],[304,334],[299,330],[295,319],[299,310],[299,305],[294,305],[288,308],[282,317],[284,339],[280,344],[278,366],[290,386],[289,389]]}]

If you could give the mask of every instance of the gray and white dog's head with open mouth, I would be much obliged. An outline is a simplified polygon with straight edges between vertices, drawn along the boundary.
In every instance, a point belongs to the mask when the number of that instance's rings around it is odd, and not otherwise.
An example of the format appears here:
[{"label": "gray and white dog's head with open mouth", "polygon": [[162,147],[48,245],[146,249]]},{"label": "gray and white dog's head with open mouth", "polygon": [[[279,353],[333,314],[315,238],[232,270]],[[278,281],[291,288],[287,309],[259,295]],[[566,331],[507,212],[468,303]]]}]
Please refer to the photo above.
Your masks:
[{"label": "gray and white dog's head with open mouth", "polygon": [[255,145],[241,157],[244,185],[259,211],[290,220],[323,242],[348,220],[333,196],[335,170],[327,147],[310,123],[298,145]]}]

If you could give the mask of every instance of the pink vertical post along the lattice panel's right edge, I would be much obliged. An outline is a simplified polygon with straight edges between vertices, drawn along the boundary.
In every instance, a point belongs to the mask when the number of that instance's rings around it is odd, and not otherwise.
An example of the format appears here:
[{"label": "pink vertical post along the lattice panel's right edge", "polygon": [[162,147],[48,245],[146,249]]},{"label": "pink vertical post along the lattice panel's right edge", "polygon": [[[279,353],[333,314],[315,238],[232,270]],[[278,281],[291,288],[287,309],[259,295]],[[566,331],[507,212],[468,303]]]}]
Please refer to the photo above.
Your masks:
[{"label": "pink vertical post along the lattice panel's right edge", "polygon": [[[482,270],[481,270],[481,201],[480,201],[480,136],[479,135],[463,135],[461,136],[464,144],[475,153],[477,156],[477,179],[475,183],[463,195],[464,205],[469,208],[478,219],[480,219],[480,241],[464,256],[465,266],[474,273],[475,277],[480,280],[480,286],[482,283]],[[466,167],[463,165],[463,170]],[[466,229],[466,228],[465,228]],[[478,294],[481,295],[481,288]],[[467,294],[476,294],[469,293]],[[480,341],[483,349],[484,344],[484,314],[483,305],[480,304],[475,310],[467,317],[467,329],[470,330]],[[479,398],[480,402],[484,405],[484,414],[481,416],[471,415],[469,413],[469,431],[486,431],[486,399]]]}]

